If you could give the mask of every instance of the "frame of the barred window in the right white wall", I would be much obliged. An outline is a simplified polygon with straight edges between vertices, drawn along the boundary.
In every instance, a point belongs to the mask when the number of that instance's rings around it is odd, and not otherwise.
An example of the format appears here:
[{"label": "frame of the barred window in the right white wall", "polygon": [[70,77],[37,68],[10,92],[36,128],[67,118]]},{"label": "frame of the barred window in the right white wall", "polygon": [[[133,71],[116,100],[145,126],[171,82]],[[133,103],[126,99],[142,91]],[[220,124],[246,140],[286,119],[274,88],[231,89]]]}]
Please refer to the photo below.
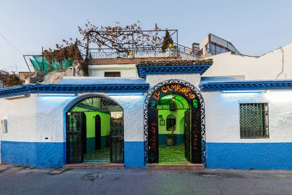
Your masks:
[{"label": "frame of the barred window in the right white wall", "polygon": [[[262,131],[265,131],[265,137],[241,137],[241,132],[240,131],[249,131],[249,130],[241,130],[240,129],[240,117],[241,117],[241,113],[240,113],[240,106],[241,104],[264,104],[265,106],[265,110],[264,110],[264,117],[262,122],[265,122],[265,126],[262,126]],[[263,111],[261,111],[263,112]],[[238,102],[238,124],[239,124],[239,137],[240,139],[269,139],[270,138],[270,126],[269,126],[269,103],[268,102]],[[264,129],[264,127],[266,129]],[[255,131],[255,130],[251,130],[251,131]]]}]

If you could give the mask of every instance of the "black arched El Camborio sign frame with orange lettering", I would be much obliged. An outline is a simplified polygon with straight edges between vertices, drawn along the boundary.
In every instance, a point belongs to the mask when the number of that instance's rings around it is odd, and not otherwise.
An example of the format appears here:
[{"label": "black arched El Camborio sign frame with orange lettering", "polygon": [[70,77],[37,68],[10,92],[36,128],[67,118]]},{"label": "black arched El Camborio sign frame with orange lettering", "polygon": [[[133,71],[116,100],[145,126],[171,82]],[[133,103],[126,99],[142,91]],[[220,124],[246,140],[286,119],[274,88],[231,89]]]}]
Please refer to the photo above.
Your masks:
[{"label": "black arched El Camborio sign frame with orange lettering", "polygon": [[[176,93],[183,95],[189,103],[190,106],[190,161],[192,163],[203,163],[204,152],[202,153],[202,143],[204,151],[204,140],[202,140],[202,135],[204,138],[204,128],[201,125],[201,94],[200,92],[191,84],[180,81],[180,80],[170,80],[165,81],[157,86],[155,86],[147,95],[147,151],[146,159],[148,163],[158,163],[159,161],[159,133],[158,133],[158,111],[157,105],[159,100],[169,93]],[[198,96],[200,95],[200,97]],[[201,101],[200,101],[201,100]],[[202,132],[203,130],[203,132]],[[188,147],[188,146],[187,146]],[[203,158],[203,160],[202,160]]]}]

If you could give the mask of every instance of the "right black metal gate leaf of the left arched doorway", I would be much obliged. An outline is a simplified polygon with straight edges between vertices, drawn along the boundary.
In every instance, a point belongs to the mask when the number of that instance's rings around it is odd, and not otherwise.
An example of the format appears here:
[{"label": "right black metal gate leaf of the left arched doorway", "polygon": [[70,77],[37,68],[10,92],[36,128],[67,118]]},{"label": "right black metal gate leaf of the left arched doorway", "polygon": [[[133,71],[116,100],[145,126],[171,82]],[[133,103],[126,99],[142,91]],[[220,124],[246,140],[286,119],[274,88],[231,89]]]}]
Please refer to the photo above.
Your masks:
[{"label": "right black metal gate leaf of the left arched doorway", "polygon": [[110,162],[124,163],[123,112],[110,113]]}]

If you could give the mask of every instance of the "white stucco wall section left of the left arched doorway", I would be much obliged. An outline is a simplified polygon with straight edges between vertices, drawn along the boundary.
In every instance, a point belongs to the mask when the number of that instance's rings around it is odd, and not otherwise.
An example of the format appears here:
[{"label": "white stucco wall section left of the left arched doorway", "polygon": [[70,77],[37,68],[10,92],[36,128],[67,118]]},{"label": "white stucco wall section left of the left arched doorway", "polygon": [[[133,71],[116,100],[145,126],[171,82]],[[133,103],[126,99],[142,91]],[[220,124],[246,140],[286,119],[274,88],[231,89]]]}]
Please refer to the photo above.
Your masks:
[{"label": "white stucco wall section left of the left arched doorway", "polygon": [[63,108],[70,97],[1,99],[0,118],[7,119],[8,133],[1,141],[41,142],[41,136],[52,135],[52,142],[64,142]]}]

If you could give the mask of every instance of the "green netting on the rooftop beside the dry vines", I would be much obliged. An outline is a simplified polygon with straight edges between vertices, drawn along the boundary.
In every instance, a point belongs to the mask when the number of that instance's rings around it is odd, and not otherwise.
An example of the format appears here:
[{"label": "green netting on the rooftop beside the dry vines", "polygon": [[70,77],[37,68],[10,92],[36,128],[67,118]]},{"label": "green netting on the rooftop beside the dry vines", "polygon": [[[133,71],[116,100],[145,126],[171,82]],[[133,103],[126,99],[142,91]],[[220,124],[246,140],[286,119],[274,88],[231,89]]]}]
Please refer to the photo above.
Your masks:
[{"label": "green netting on the rooftop beside the dry vines", "polygon": [[[54,61],[52,64],[49,64],[47,59],[43,58],[42,56],[33,56],[33,58],[34,59],[29,59],[29,60],[33,64],[35,71],[40,71],[40,72],[45,72],[45,73],[49,73],[49,72],[55,71],[59,67],[68,68],[68,67],[71,67],[72,64],[73,64],[69,60],[63,60],[61,65],[60,65],[59,62],[56,62],[56,61]],[[42,62],[43,59],[44,59],[44,65],[43,65],[43,62]],[[52,69],[48,70],[50,68],[50,65],[52,66]]]}]

